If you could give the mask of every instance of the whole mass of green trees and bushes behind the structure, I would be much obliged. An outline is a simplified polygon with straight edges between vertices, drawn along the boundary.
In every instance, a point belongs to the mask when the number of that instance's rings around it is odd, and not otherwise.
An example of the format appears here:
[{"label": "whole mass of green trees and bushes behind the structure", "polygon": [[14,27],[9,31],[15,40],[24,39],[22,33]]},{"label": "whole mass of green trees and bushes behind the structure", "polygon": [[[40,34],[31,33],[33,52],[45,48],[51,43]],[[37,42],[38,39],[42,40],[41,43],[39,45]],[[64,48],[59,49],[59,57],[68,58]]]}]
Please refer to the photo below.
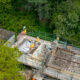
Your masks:
[{"label": "whole mass of green trees and bushes behind the structure", "polygon": [[19,33],[26,25],[80,45],[79,0],[0,0],[0,5],[0,27]]}]

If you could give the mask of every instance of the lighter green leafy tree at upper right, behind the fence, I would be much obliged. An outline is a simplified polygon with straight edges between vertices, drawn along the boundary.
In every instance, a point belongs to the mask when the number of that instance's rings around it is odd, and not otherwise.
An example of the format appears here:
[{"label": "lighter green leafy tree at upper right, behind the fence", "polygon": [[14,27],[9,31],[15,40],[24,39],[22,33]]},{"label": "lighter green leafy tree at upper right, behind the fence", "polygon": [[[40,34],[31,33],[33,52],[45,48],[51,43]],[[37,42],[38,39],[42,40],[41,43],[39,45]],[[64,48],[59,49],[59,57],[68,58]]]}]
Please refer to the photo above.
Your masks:
[{"label": "lighter green leafy tree at upper right, behind the fence", "polygon": [[80,15],[78,13],[79,12],[76,11],[76,6],[74,6],[74,2],[63,1],[60,3],[57,10],[53,13],[51,22],[51,26],[55,27],[53,32],[58,36],[70,40],[74,44],[80,41]]}]

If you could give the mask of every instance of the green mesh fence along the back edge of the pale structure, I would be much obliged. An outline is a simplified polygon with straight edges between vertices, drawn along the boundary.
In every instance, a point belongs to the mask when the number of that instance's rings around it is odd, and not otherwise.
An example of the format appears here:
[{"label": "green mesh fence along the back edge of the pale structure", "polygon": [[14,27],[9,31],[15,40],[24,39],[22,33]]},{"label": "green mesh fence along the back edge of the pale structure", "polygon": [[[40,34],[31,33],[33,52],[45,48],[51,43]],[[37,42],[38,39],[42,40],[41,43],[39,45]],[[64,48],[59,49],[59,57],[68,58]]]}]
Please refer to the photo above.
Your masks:
[{"label": "green mesh fence along the back edge of the pale structure", "polygon": [[[47,41],[53,41],[57,38],[57,36],[55,34],[41,32],[41,31],[33,31],[33,30],[28,31],[27,35],[33,36],[33,37],[39,36],[40,39],[47,40]],[[66,39],[60,37],[59,43],[61,43],[61,44],[67,43],[68,45],[76,46],[76,47],[80,48],[80,42],[76,41],[76,40],[69,41],[69,40],[66,40]]]}]

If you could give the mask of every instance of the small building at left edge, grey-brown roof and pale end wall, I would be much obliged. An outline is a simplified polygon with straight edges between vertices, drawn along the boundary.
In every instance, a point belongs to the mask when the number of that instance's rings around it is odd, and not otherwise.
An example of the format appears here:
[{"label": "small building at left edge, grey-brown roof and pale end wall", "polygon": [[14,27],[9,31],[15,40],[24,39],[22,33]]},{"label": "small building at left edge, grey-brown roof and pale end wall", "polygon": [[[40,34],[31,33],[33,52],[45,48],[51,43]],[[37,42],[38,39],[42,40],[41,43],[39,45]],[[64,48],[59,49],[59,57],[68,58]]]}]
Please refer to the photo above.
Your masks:
[{"label": "small building at left edge, grey-brown roof and pale end wall", "polygon": [[11,46],[15,43],[15,32],[0,29],[0,42]]}]

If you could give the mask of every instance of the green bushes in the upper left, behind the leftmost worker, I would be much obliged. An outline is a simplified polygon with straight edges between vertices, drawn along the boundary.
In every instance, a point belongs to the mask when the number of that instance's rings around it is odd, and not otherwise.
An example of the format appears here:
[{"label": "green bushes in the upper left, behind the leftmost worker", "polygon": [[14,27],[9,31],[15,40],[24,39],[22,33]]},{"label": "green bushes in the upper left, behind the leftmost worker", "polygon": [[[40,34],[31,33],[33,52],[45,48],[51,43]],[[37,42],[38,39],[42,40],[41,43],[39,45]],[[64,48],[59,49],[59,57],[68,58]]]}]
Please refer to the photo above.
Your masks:
[{"label": "green bushes in the upper left, behind the leftmost worker", "polygon": [[[16,3],[16,6],[12,3]],[[14,0],[3,0],[0,1],[0,25],[2,28],[12,30],[14,32],[20,32],[25,25],[28,30],[33,29],[36,31],[38,25],[35,20],[35,15],[29,13],[28,11],[16,11],[15,7],[18,6],[18,1]],[[19,1],[20,4],[25,4],[24,1]],[[19,5],[20,5],[19,4]],[[23,5],[22,5],[23,6]],[[19,7],[20,8],[20,7]]]}]

